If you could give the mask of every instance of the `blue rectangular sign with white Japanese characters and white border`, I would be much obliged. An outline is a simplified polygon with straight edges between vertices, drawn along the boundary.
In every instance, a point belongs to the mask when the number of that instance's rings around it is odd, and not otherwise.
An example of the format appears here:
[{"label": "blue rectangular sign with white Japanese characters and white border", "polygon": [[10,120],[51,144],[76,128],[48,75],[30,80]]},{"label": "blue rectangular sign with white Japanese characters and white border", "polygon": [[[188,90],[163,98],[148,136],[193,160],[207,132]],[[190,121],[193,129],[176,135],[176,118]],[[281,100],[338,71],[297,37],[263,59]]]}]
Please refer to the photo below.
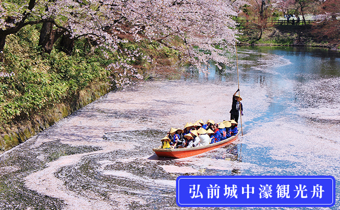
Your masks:
[{"label": "blue rectangular sign with white Japanese characters and white border", "polygon": [[179,176],[179,207],[332,207],[332,176]]}]

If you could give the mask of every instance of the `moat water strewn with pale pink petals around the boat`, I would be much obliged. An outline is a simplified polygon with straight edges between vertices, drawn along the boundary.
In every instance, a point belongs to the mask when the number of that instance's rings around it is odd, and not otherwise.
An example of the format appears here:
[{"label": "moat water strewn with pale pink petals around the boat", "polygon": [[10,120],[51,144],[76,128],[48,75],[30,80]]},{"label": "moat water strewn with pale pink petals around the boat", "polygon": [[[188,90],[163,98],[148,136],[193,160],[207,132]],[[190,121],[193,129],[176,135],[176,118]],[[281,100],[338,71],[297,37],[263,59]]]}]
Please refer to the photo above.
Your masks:
[{"label": "moat water strewn with pale pink petals around the boat", "polygon": [[336,204],[323,209],[340,209],[339,54],[242,47],[238,57],[244,116],[234,144],[184,159],[152,152],[170,127],[229,118],[235,62],[211,63],[206,76],[186,68],[181,80],[111,92],[0,155],[0,209],[181,209],[180,175],[331,175]]}]

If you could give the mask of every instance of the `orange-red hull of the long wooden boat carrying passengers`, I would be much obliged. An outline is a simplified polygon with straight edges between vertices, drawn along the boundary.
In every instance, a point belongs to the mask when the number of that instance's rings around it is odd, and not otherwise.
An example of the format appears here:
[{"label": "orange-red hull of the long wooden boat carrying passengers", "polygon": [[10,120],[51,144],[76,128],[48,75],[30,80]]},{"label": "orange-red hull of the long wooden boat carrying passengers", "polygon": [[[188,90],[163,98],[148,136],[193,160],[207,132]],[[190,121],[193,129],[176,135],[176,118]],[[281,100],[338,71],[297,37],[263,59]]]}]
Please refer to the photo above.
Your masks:
[{"label": "orange-red hull of the long wooden boat carrying passengers", "polygon": [[191,148],[179,148],[179,149],[153,148],[152,151],[155,152],[158,157],[171,157],[171,158],[191,157],[191,156],[202,154],[207,151],[216,149],[218,147],[223,147],[225,145],[230,144],[231,142],[237,139],[239,132],[240,131],[238,131],[238,133],[235,136],[227,138],[223,141],[205,145],[205,146],[191,147]]}]

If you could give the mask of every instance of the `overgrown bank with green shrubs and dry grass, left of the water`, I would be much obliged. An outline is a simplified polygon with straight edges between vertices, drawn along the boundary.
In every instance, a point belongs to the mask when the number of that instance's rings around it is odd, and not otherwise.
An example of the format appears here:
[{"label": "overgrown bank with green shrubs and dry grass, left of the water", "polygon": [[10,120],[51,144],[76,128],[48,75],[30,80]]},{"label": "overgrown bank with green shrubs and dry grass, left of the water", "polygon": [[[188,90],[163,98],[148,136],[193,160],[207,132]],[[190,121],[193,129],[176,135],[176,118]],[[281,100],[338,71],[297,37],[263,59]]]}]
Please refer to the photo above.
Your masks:
[{"label": "overgrown bank with green shrubs and dry grass, left of the water", "polygon": [[[83,39],[75,41],[72,55],[62,52],[59,41],[51,53],[42,53],[36,27],[24,27],[6,38],[0,63],[0,152],[108,91],[157,77],[161,69],[168,69],[162,67],[178,60],[176,51],[146,41],[121,43],[128,51],[141,52],[133,59],[127,52],[118,54],[100,47],[86,56]],[[128,60],[127,69],[107,68],[122,59]]]}]

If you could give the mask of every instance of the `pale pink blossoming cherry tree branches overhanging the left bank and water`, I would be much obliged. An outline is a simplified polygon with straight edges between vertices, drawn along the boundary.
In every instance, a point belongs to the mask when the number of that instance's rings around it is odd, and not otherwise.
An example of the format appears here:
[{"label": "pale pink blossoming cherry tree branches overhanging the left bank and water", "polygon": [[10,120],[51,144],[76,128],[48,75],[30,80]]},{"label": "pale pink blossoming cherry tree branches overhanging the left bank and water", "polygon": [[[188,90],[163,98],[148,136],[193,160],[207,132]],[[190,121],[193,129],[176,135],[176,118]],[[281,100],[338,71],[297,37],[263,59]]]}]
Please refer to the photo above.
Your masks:
[{"label": "pale pink blossoming cherry tree branches overhanging the left bank and water", "polygon": [[[70,55],[74,40],[83,37],[89,49],[87,56],[97,47],[104,55],[105,50],[125,53],[121,62],[108,66],[116,71],[119,68],[122,75],[136,74],[128,59],[141,56],[149,60],[139,52],[124,49],[122,43],[127,41],[159,42],[200,66],[209,59],[227,64],[225,49],[232,50],[237,34],[231,19],[237,13],[228,0],[29,0],[26,3],[0,4],[0,51],[7,35],[26,25],[42,23],[39,45],[43,52],[49,53],[61,36],[60,45]],[[174,38],[180,39],[181,44],[172,45]]]}]

